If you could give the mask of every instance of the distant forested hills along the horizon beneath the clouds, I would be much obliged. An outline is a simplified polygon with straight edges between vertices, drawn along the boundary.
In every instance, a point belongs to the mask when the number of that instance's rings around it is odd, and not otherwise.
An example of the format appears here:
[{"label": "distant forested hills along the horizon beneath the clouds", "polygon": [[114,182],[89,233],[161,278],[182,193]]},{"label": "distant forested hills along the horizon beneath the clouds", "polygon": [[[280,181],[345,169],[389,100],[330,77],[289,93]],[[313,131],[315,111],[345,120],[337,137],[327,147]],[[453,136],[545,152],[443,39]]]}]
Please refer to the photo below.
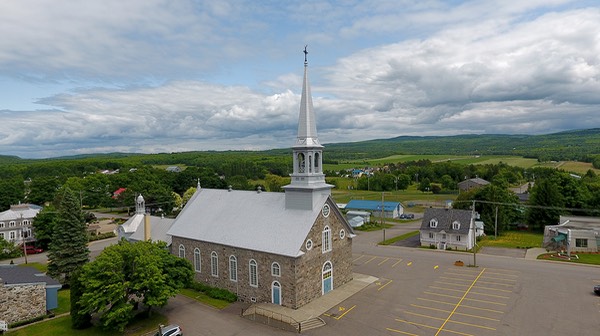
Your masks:
[{"label": "distant forested hills along the horizon beneath the clouds", "polygon": [[[455,136],[399,136],[389,139],[376,139],[358,142],[325,144],[327,162],[340,160],[373,159],[399,154],[451,154],[451,155],[516,155],[536,158],[540,161],[586,161],[600,154],[600,128],[572,130],[544,135],[455,135]],[[17,156],[0,155],[0,164],[27,163],[48,160],[84,159],[125,159],[161,164],[165,158],[178,163],[181,157],[197,155],[235,156],[246,153],[249,156],[288,155],[290,148],[266,151],[203,151],[185,153],[134,154],[104,153],[64,156],[43,160],[21,159]]]}]

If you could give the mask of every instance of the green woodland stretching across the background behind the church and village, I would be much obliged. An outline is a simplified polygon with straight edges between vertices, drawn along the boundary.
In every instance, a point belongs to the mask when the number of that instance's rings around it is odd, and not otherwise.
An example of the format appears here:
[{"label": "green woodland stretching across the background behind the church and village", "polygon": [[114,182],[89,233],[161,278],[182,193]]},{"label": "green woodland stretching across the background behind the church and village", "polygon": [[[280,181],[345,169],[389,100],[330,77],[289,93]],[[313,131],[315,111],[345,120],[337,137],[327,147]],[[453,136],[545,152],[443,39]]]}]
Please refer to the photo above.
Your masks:
[{"label": "green woodland stretching across the background behind the church and village", "polygon": [[[398,154],[510,154],[536,157],[538,161],[581,160],[597,164],[600,163],[600,129],[537,136],[398,137],[329,144],[325,145],[324,153],[328,167],[335,167],[334,164],[339,162],[357,162],[356,168],[364,168],[358,163],[361,160]],[[493,186],[497,189],[488,188],[479,194],[461,194],[459,198],[513,202],[513,197],[500,195],[499,190],[535,182],[531,190],[532,202],[557,209],[570,209],[545,211],[550,213],[550,217],[546,219],[550,223],[555,223],[554,219],[558,220],[560,213],[578,213],[577,209],[600,209],[600,181],[592,170],[584,176],[573,177],[573,174],[556,169],[524,169],[502,162],[484,165],[432,162],[427,159],[406,162],[390,159],[389,162],[379,162],[377,166],[370,167],[368,174],[355,179],[353,188],[389,191],[404,190],[416,185],[424,193],[424,197],[427,193],[456,195],[458,182],[480,177],[492,182],[489,188]],[[166,169],[169,166],[178,166],[181,172],[169,172]],[[58,190],[68,187],[78,195],[80,205],[85,209],[132,207],[135,195],[143,194],[146,204],[153,212],[160,211],[169,215],[185,202],[186,192],[189,193],[198,183],[207,188],[231,186],[233,189],[253,190],[261,186],[264,190],[281,191],[281,186],[289,183],[291,166],[291,149],[110,153],[50,159],[0,156],[0,185],[4,191],[0,195],[0,211],[19,202],[49,204],[53,202]],[[328,183],[337,185],[348,172],[330,170],[326,171],[326,175]],[[116,195],[115,191],[120,188],[125,191]],[[536,192],[536,188],[545,189],[542,193]],[[542,196],[547,199],[542,200]],[[481,210],[488,213],[489,209],[485,209],[490,207],[480,204]],[[522,209],[513,210],[523,212]],[[513,212],[501,212],[501,223],[506,224],[503,226],[508,227],[516,221],[527,221],[536,228],[536,218],[527,217],[535,211],[528,211],[526,216],[520,217]],[[536,216],[545,215],[538,213]]]}]

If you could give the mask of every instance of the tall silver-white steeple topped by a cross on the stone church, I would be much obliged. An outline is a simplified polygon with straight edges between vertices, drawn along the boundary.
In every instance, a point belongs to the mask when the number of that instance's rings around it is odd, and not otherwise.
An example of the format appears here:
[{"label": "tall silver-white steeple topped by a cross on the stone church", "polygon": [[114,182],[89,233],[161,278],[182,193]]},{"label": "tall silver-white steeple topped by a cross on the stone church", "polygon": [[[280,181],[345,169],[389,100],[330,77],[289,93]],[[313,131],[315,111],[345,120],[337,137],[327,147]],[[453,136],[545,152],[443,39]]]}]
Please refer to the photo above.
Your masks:
[{"label": "tall silver-white steeple topped by a cross on the stone church", "polygon": [[317,122],[308,83],[308,52],[304,47],[304,81],[300,98],[298,137],[292,147],[294,172],[292,181],[284,186],[286,208],[312,209],[318,195],[330,195],[332,185],[325,183],[323,146],[317,137]]}]

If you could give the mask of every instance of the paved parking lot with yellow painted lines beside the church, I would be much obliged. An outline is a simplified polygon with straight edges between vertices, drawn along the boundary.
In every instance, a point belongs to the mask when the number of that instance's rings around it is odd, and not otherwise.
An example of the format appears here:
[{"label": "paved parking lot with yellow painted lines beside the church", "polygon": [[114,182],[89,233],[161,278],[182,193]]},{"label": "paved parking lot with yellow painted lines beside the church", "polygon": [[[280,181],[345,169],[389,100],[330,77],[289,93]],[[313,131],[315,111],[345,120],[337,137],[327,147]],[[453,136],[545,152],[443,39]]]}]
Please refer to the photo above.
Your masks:
[{"label": "paved parking lot with yellow painted lines beside the church", "polygon": [[[519,258],[374,248],[354,271],[379,277],[307,335],[592,335],[600,269]],[[465,266],[454,266],[456,259]],[[567,277],[570,277],[567,280]],[[568,285],[567,285],[568,284]]]}]

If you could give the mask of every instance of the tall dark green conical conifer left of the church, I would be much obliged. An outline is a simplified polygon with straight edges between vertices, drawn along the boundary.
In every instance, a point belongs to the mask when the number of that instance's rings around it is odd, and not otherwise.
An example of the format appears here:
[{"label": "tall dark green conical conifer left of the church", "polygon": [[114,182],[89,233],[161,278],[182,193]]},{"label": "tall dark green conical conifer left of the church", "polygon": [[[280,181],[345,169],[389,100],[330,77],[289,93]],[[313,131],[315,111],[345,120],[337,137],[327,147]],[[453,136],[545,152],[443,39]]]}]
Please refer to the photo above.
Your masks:
[{"label": "tall dark green conical conifer left of the church", "polygon": [[88,262],[90,251],[77,196],[68,188],[59,193],[58,216],[48,251],[48,274],[68,286],[71,274]]}]

